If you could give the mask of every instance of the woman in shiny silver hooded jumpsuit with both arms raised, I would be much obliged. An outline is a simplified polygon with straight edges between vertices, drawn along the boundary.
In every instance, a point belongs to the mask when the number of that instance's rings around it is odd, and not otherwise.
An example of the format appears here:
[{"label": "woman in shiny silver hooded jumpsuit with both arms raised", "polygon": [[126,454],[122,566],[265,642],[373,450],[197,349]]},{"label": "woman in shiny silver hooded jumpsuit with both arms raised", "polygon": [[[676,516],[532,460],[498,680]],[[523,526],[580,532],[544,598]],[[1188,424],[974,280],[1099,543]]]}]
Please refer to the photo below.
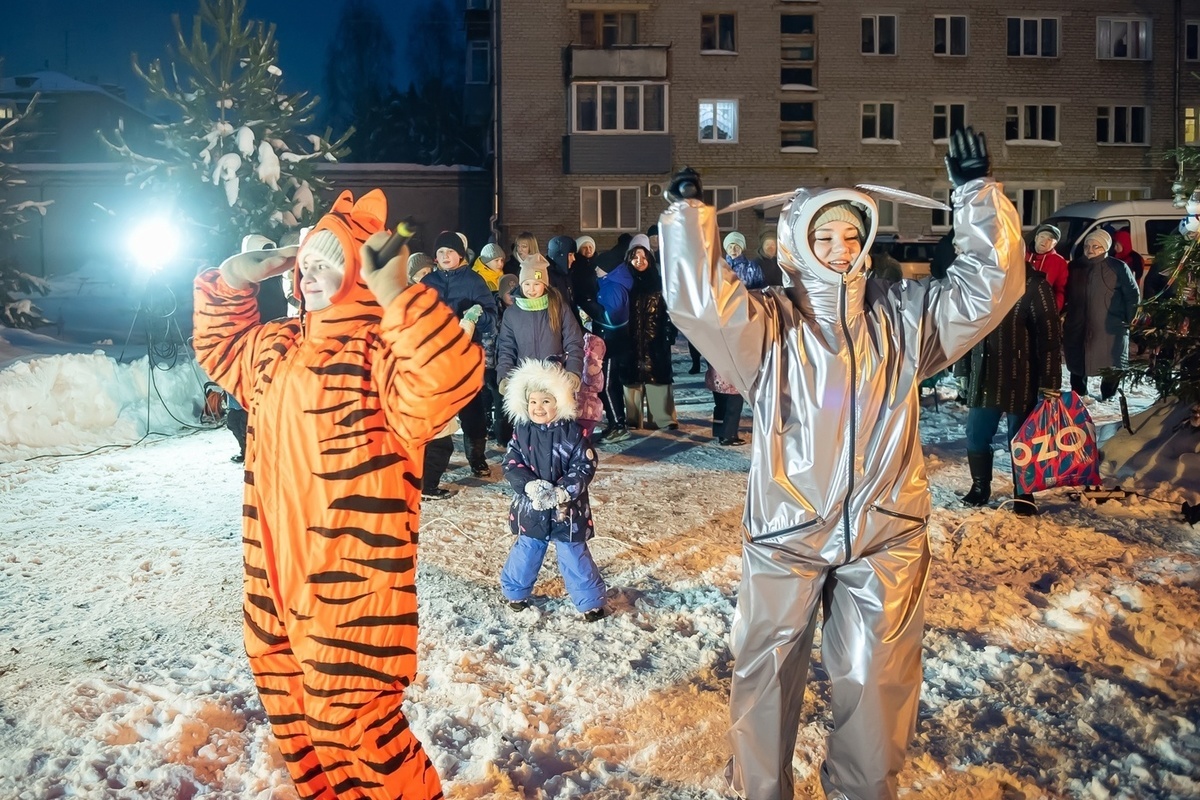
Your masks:
[{"label": "woman in shiny silver hooded jumpsuit with both arms raised", "polygon": [[684,170],[659,221],[678,329],[754,410],[726,770],[750,800],[791,800],[818,612],[833,729],[829,798],[896,796],[922,681],[930,551],[920,381],[995,327],[1025,287],[1021,225],[983,134],[955,131],[958,258],[944,279],[888,283],[864,261],[870,196],[798,190],[779,218],[786,285],[750,291],[721,258],[716,210]]}]

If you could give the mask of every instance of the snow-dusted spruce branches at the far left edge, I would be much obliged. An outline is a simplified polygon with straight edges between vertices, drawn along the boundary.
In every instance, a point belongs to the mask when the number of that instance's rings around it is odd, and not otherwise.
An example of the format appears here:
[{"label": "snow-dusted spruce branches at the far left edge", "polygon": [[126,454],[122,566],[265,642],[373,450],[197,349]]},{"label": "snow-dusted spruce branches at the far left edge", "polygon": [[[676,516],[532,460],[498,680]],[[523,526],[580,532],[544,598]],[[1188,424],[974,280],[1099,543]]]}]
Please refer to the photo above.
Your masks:
[{"label": "snow-dusted spruce branches at the far left edge", "polygon": [[12,152],[18,140],[31,136],[19,126],[30,118],[36,106],[37,95],[22,113],[13,114],[0,125],[0,326],[5,327],[32,329],[50,324],[32,300],[19,296],[44,295],[49,287],[42,278],[22,271],[13,247],[22,237],[20,227],[29,221],[29,212],[36,211],[46,216],[49,201],[12,201],[13,190],[25,181],[20,178],[20,170],[5,161],[5,154]]}]

